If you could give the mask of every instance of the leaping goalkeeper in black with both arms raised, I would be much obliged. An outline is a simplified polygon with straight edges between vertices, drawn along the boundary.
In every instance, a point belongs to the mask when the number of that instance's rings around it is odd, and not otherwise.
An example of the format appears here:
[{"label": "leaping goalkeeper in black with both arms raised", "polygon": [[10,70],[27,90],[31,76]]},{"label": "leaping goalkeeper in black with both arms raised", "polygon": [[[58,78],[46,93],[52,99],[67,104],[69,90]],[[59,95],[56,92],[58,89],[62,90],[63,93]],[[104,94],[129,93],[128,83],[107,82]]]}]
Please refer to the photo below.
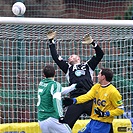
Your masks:
[{"label": "leaping goalkeeper in black with both arms raised", "polygon": [[[104,53],[102,49],[93,41],[91,36],[87,34],[84,36],[82,43],[92,45],[96,55],[83,64],[81,64],[80,57],[78,55],[71,55],[68,58],[68,61],[65,61],[60,55],[57,54],[56,44],[54,41],[55,36],[55,31],[49,31],[47,33],[47,38],[50,41],[49,47],[53,60],[66,74],[69,85],[80,83],[80,85],[77,86],[78,88],[76,87],[76,90],[70,92],[70,97],[73,98],[87,93],[93,86],[93,72],[103,58]],[[69,106],[65,114],[66,123],[73,128],[75,122],[81,114],[86,113],[90,116],[92,103],[93,102],[91,100],[80,105]]]}]

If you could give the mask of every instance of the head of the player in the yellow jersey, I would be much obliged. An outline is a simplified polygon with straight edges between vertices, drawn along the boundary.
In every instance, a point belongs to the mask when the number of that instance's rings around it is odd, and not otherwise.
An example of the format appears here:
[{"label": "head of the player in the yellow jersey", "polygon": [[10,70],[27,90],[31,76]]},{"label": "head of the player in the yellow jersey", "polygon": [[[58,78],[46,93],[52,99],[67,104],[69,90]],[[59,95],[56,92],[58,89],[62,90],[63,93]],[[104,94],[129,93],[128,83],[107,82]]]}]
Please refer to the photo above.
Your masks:
[{"label": "head of the player in the yellow jersey", "polygon": [[102,68],[98,74],[99,82],[111,82],[113,78],[113,72],[109,68]]}]

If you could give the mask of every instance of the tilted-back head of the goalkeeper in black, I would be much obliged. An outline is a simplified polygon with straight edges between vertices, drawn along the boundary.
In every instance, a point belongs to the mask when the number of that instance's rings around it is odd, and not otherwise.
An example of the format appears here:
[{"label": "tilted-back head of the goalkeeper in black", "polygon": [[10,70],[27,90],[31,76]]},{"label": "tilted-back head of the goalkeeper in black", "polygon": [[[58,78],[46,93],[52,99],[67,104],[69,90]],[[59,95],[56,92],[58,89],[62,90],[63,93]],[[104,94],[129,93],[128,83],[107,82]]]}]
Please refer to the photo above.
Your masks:
[{"label": "tilted-back head of the goalkeeper in black", "polygon": [[80,57],[78,55],[72,54],[68,58],[68,63],[71,65],[80,63]]}]

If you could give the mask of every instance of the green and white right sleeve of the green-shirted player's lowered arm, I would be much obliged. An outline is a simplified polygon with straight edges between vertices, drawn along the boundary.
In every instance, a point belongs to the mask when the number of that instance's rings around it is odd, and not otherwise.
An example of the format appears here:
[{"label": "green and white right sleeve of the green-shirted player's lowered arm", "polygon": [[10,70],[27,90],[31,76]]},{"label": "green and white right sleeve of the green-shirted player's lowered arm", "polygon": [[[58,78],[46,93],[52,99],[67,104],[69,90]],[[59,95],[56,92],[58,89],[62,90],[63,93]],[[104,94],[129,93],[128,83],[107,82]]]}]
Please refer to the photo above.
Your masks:
[{"label": "green and white right sleeve of the green-shirted player's lowered arm", "polygon": [[53,95],[53,106],[59,117],[63,116],[62,100],[61,100],[61,84],[56,82],[51,87],[51,94]]}]

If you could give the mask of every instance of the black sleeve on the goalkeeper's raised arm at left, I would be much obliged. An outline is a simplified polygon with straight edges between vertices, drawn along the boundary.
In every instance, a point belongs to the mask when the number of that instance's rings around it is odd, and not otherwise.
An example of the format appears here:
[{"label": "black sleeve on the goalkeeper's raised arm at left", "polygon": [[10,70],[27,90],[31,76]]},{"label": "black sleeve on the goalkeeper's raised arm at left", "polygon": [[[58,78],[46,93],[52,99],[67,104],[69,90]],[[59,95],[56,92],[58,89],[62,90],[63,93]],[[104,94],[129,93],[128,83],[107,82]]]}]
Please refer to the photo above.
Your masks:
[{"label": "black sleeve on the goalkeeper's raised arm at left", "polygon": [[57,54],[55,44],[50,44],[49,48],[53,60],[59,66],[59,68],[66,74],[69,67],[68,63],[65,60],[63,60],[63,58],[60,55]]}]

